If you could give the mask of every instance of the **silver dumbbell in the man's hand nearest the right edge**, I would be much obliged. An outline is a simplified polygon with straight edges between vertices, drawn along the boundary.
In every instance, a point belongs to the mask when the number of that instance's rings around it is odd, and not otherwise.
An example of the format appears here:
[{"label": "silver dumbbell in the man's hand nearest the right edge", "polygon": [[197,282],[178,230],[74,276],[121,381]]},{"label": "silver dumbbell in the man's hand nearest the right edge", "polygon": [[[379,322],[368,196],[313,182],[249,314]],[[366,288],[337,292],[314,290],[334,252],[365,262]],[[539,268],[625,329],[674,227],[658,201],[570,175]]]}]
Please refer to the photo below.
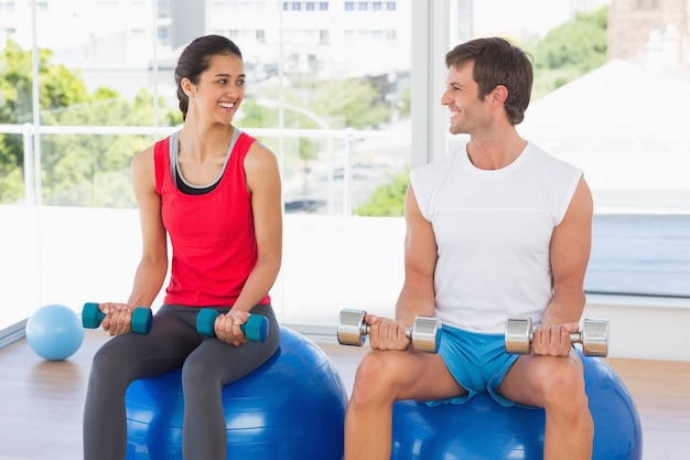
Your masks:
[{"label": "silver dumbbell in the man's hand nearest the right edge", "polygon": [[[531,353],[533,336],[531,318],[510,318],[506,321],[506,351],[508,353]],[[608,321],[585,319],[581,331],[570,333],[570,341],[582,344],[584,355],[608,355]]]}]

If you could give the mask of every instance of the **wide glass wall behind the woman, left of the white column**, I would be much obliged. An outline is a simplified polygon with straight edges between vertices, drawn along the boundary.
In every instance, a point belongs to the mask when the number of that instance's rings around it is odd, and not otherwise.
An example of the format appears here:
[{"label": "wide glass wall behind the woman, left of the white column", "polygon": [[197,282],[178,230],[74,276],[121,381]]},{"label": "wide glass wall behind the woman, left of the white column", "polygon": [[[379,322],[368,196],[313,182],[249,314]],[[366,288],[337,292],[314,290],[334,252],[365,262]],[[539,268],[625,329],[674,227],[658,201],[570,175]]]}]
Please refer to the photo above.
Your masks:
[{"label": "wide glass wall behind the woman, left of the white column", "polygon": [[[201,8],[176,0],[73,0],[13,2],[14,11],[3,10],[0,30],[10,38],[3,46],[13,53],[6,56],[24,75],[14,85],[17,106],[0,106],[10,127],[0,129],[0,200],[22,206],[8,216],[17,226],[2,235],[15,249],[8,254],[25,265],[3,266],[18,287],[11,303],[22,303],[17,318],[45,303],[80,310],[85,301],[127,297],[140,256],[129,163],[182,122],[176,58],[192,39],[217,33],[236,41],[245,57],[249,85],[236,125],[277,153],[283,174],[287,247],[274,304],[287,322],[332,325],[351,291],[342,277],[371,282],[354,267],[374,248],[351,235],[374,231],[376,220],[351,221],[351,214],[391,215],[369,202],[380,188],[399,190],[400,176],[407,180],[408,3],[218,0]],[[242,21],[228,21],[238,14]],[[317,239],[311,232],[323,245],[306,258],[302,248]],[[389,238],[396,254],[401,237]],[[339,261],[339,252],[354,257],[352,264]],[[344,270],[341,277],[333,266]],[[299,284],[284,289],[294,277],[328,287],[333,300],[293,289]],[[391,292],[379,286],[379,303],[392,304],[399,284],[391,286]],[[367,304],[375,297],[358,296]]]}]

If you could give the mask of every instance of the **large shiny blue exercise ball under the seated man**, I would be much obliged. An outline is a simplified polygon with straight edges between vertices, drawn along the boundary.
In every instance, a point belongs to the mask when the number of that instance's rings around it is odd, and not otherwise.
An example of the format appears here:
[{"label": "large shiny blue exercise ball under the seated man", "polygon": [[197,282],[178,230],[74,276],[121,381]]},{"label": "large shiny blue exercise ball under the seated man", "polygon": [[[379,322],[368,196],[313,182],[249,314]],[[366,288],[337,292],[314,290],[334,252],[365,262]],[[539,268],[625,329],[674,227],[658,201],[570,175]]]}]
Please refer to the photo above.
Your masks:
[{"label": "large shiny blue exercise ball under the seated man", "polygon": [[[582,356],[594,419],[592,460],[640,460],[643,434],[635,403],[601,359]],[[543,454],[543,409],[504,407],[487,394],[465,405],[393,406],[391,460],[533,460]]]}]

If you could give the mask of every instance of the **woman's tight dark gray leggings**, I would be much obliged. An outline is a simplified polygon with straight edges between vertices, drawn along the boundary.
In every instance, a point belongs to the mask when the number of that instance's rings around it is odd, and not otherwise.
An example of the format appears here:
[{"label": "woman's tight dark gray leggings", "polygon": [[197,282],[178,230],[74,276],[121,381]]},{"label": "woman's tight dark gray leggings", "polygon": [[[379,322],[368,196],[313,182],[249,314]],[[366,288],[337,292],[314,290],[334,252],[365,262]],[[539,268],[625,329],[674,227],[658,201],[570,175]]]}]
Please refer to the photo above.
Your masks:
[{"label": "woman's tight dark gray leggings", "polygon": [[[139,378],[182,366],[184,459],[225,460],[227,436],[222,404],[224,385],[259,367],[278,350],[279,324],[269,304],[251,314],[269,320],[263,343],[235,346],[196,332],[198,308],[163,306],[151,331],[122,334],[94,356],[84,408],[84,460],[123,460],[127,450],[125,392]],[[227,312],[227,308],[217,308]]]}]

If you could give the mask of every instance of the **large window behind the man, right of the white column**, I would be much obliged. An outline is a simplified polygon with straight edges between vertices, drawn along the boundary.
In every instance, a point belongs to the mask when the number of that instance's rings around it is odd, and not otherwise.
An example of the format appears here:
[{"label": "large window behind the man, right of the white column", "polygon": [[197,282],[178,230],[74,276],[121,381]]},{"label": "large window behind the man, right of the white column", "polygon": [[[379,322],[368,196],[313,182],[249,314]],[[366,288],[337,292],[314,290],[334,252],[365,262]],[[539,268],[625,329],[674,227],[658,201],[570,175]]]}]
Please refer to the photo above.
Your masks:
[{"label": "large window behind the man, right of the white column", "polygon": [[[492,14],[498,3],[503,18]],[[690,298],[690,109],[677,104],[690,100],[680,19],[688,6],[467,0],[456,8],[457,42],[509,36],[533,56],[532,100],[518,131],[584,170],[595,205],[585,290]],[[662,29],[659,14],[668,18]]]}]

